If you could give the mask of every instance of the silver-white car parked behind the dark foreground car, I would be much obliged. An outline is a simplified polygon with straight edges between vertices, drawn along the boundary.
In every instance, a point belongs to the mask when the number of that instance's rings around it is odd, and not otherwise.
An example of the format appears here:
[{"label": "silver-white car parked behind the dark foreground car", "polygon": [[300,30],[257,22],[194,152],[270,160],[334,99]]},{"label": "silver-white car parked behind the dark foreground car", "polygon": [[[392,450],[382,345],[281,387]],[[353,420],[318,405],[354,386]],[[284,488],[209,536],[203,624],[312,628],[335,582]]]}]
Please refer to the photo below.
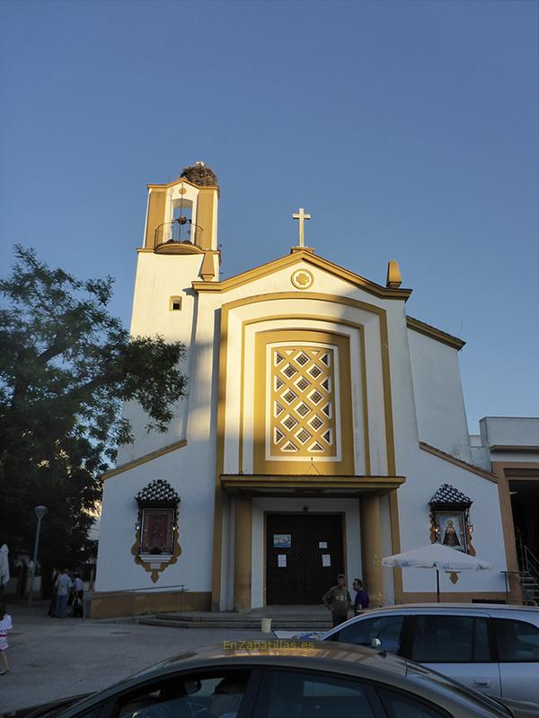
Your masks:
[{"label": "silver-white car parked behind the dark foreground car", "polygon": [[366,611],[321,638],[378,647],[490,696],[539,703],[539,608],[406,604]]}]

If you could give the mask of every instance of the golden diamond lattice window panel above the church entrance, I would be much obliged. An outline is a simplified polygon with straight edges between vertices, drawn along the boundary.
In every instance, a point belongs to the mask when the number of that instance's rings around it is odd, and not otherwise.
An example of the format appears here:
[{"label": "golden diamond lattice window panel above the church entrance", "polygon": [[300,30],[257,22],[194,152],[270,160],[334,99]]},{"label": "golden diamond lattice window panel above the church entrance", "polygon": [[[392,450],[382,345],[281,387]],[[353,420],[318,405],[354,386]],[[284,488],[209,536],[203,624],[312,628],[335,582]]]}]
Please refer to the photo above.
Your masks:
[{"label": "golden diamond lattice window panel above the church entrance", "polygon": [[334,352],[271,349],[271,455],[335,456]]}]

